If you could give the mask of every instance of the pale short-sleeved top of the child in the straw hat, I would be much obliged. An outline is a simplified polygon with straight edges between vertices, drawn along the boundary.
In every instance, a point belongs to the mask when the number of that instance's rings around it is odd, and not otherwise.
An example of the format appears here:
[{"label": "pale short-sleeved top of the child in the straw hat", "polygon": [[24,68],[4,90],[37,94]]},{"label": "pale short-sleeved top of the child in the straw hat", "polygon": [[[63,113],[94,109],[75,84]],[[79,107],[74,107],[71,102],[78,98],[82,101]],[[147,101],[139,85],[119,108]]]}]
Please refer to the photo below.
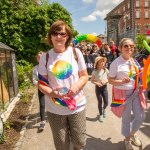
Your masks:
[{"label": "pale short-sleeved top of the child in the straw hat", "polygon": [[94,75],[96,81],[108,81],[108,69],[105,70],[94,70],[92,75]]}]

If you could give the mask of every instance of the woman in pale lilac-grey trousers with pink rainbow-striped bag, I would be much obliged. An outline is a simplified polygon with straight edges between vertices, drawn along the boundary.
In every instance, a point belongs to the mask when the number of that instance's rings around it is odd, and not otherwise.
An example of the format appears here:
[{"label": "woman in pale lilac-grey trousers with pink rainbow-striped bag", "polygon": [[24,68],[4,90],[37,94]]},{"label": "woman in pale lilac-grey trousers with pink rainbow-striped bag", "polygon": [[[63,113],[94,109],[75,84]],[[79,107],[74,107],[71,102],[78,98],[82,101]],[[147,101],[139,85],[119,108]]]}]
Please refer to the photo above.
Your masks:
[{"label": "woman in pale lilac-grey trousers with pink rainbow-striped bag", "polygon": [[[110,65],[108,81],[113,85],[113,101],[111,106],[122,108],[122,134],[125,136],[126,150],[133,150],[131,141],[141,146],[137,131],[145,119],[144,109],[139,99],[141,68],[132,58],[134,52],[132,39],[123,38],[119,44],[121,55]],[[115,91],[115,92],[114,92]],[[120,97],[119,97],[120,96]],[[133,119],[132,113],[133,112]]]}]

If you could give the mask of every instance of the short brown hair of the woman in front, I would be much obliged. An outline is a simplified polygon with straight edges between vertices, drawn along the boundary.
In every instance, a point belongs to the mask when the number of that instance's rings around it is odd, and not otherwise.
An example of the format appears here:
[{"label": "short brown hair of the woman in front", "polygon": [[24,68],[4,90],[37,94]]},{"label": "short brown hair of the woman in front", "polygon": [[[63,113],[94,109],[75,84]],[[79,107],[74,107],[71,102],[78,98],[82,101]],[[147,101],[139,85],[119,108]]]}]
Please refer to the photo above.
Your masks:
[{"label": "short brown hair of the woman in front", "polygon": [[66,44],[65,44],[65,47],[67,48],[67,47],[69,46],[70,42],[72,41],[71,29],[70,29],[70,27],[69,27],[64,21],[62,21],[62,20],[57,20],[57,21],[55,21],[55,22],[51,25],[51,27],[50,27],[50,29],[49,29],[49,31],[48,31],[48,41],[49,41],[49,44],[50,44],[50,45],[53,45],[52,40],[51,40],[51,35],[52,35],[52,33],[55,32],[55,31],[61,31],[63,27],[65,27],[66,33],[67,33],[67,35],[68,35],[68,39],[67,39],[67,42],[66,42]]}]

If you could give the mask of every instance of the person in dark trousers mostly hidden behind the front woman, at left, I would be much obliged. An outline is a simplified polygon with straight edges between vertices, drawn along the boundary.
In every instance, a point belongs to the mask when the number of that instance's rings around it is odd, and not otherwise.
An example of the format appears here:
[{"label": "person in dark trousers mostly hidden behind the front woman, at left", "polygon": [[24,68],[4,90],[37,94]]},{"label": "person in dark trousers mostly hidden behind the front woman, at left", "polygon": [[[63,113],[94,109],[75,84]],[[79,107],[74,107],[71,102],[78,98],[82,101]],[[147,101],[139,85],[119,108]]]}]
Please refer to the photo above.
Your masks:
[{"label": "person in dark trousers mostly hidden behind the front woman, at left", "polygon": [[[39,63],[40,57],[43,54],[42,51],[38,52],[36,55],[36,61]],[[33,69],[33,84],[38,87],[38,67],[39,64],[36,65]],[[45,127],[45,100],[44,100],[44,94],[38,89],[38,99],[39,99],[39,106],[40,106],[40,118],[41,118],[41,123],[39,126],[39,131],[43,131]]]}]

